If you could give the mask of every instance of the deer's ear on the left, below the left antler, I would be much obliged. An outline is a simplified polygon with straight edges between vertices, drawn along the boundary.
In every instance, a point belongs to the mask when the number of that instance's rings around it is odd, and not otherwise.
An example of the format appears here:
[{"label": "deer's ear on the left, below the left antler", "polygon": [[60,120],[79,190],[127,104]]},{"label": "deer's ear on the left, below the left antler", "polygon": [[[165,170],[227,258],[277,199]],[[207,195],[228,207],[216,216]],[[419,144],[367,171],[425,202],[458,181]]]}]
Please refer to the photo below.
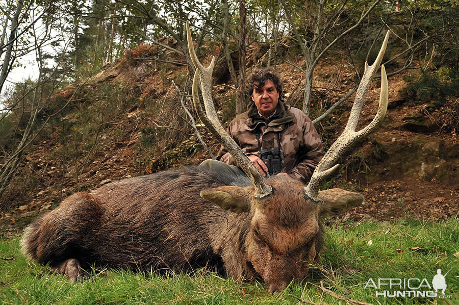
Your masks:
[{"label": "deer's ear on the left, below the left antler", "polygon": [[250,211],[250,193],[247,188],[221,186],[200,193],[201,197],[213,202],[223,210],[234,213]]}]

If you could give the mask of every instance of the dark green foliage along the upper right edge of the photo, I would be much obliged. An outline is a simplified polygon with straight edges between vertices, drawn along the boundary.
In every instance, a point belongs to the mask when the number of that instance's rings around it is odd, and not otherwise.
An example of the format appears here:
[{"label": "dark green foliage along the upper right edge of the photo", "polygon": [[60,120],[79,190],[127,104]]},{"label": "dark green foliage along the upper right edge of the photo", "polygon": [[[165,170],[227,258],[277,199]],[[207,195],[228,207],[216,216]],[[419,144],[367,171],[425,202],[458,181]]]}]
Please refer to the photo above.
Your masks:
[{"label": "dark green foliage along the upper right edge of the photo", "polygon": [[419,27],[430,34],[418,76],[407,75],[403,88],[407,100],[431,105],[426,111],[441,131],[459,130],[459,8],[450,2],[431,2],[429,11],[419,13]]}]

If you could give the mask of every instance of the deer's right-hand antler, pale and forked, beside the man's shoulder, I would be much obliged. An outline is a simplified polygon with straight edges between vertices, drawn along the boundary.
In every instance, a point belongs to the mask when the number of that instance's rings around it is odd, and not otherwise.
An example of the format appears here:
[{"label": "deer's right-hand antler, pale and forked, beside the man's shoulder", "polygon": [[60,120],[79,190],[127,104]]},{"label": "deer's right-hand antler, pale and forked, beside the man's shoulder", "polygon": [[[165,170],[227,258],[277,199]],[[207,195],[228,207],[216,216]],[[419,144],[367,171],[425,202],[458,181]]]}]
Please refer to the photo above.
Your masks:
[{"label": "deer's right-hand antler, pale and forked, beside the man's shoulder", "polygon": [[347,149],[349,149],[349,147],[352,146],[352,144],[354,144],[359,139],[370,134],[376,128],[378,128],[378,126],[382,122],[382,119],[384,119],[384,116],[386,115],[389,92],[386,69],[384,68],[384,65],[382,65],[381,92],[379,95],[378,111],[373,120],[370,122],[370,124],[368,124],[368,126],[366,126],[361,131],[355,131],[355,128],[359,121],[359,116],[362,110],[364,99],[367,95],[368,87],[370,86],[370,82],[373,77],[373,73],[378,69],[379,64],[382,61],[382,56],[384,56],[384,53],[386,52],[388,39],[389,31],[387,31],[384,42],[382,42],[381,49],[379,50],[379,54],[374,63],[371,66],[369,66],[368,63],[365,62],[365,72],[360,82],[359,88],[357,89],[357,93],[355,94],[354,105],[352,106],[352,110],[349,115],[347,125],[341,136],[339,136],[335,143],[331,145],[325,156],[323,156],[322,160],[317,165],[308,186],[303,188],[304,193],[314,201],[319,201],[318,192],[320,182],[330,173],[335,171],[335,169],[338,168],[339,164],[336,164],[333,167],[331,166],[337,162],[337,160],[345,153]]}]

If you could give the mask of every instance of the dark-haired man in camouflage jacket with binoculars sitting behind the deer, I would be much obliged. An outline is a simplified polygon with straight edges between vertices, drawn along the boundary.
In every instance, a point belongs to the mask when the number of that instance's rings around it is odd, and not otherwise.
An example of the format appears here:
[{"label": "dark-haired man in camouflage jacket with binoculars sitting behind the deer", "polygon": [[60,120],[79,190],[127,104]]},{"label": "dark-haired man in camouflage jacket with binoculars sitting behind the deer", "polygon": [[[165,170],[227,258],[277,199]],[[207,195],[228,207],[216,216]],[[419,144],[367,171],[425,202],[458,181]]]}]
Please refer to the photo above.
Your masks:
[{"label": "dark-haired man in camouflage jacket with binoculars sitting behind the deer", "polygon": [[[228,126],[230,134],[257,170],[266,176],[268,167],[260,154],[276,154],[281,150],[282,170],[275,174],[309,182],[324,155],[323,144],[312,121],[301,110],[288,107],[282,100],[281,75],[272,68],[256,68],[247,79],[246,93],[253,104]],[[274,148],[274,150],[272,149]],[[242,172],[233,157],[223,148],[217,160],[206,160],[200,166],[220,171]],[[272,174],[272,171],[270,172]]]}]

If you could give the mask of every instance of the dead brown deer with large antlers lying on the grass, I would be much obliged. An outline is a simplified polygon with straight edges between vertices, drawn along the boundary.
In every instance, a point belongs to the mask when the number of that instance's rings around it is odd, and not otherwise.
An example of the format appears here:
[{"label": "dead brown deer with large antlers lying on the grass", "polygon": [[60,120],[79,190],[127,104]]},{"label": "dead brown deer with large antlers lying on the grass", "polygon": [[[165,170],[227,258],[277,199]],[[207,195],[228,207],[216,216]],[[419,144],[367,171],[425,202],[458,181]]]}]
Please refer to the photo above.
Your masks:
[{"label": "dead brown deer with large antlers lying on the grass", "polygon": [[[212,70],[199,62],[187,22],[187,42],[196,68],[192,96],[196,112],[245,175],[225,176],[188,166],[137,176],[65,198],[25,228],[25,256],[76,282],[91,267],[170,272],[208,266],[235,279],[262,278],[269,293],[302,280],[320,261],[322,218],[363,202],[360,193],[319,190],[337,160],[382,122],[388,82],[381,66],[379,106],[360,131],[364,98],[384,55],[389,32],[373,65],[365,72],[343,133],[317,165],[308,185],[286,176],[263,177],[225,132],[212,99]],[[199,79],[199,80],[198,80]],[[202,108],[198,83],[204,104]]]}]

